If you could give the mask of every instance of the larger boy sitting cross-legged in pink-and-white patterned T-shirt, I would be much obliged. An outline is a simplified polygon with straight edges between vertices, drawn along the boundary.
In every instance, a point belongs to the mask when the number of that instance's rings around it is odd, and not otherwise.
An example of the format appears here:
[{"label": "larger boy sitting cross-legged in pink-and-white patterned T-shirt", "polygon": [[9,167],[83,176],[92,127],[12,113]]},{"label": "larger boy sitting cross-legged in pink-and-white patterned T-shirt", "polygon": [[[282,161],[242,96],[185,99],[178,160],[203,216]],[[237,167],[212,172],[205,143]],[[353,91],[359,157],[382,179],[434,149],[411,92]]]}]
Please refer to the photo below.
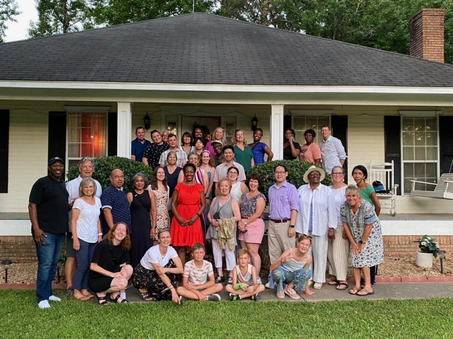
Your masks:
[{"label": "larger boy sitting cross-legged in pink-and-white patterned T-shirt", "polygon": [[202,244],[193,245],[193,260],[184,265],[182,286],[176,289],[181,300],[183,300],[182,298],[201,301],[220,300],[217,293],[223,289],[223,286],[214,282],[212,264],[203,260],[205,254],[206,251]]}]

